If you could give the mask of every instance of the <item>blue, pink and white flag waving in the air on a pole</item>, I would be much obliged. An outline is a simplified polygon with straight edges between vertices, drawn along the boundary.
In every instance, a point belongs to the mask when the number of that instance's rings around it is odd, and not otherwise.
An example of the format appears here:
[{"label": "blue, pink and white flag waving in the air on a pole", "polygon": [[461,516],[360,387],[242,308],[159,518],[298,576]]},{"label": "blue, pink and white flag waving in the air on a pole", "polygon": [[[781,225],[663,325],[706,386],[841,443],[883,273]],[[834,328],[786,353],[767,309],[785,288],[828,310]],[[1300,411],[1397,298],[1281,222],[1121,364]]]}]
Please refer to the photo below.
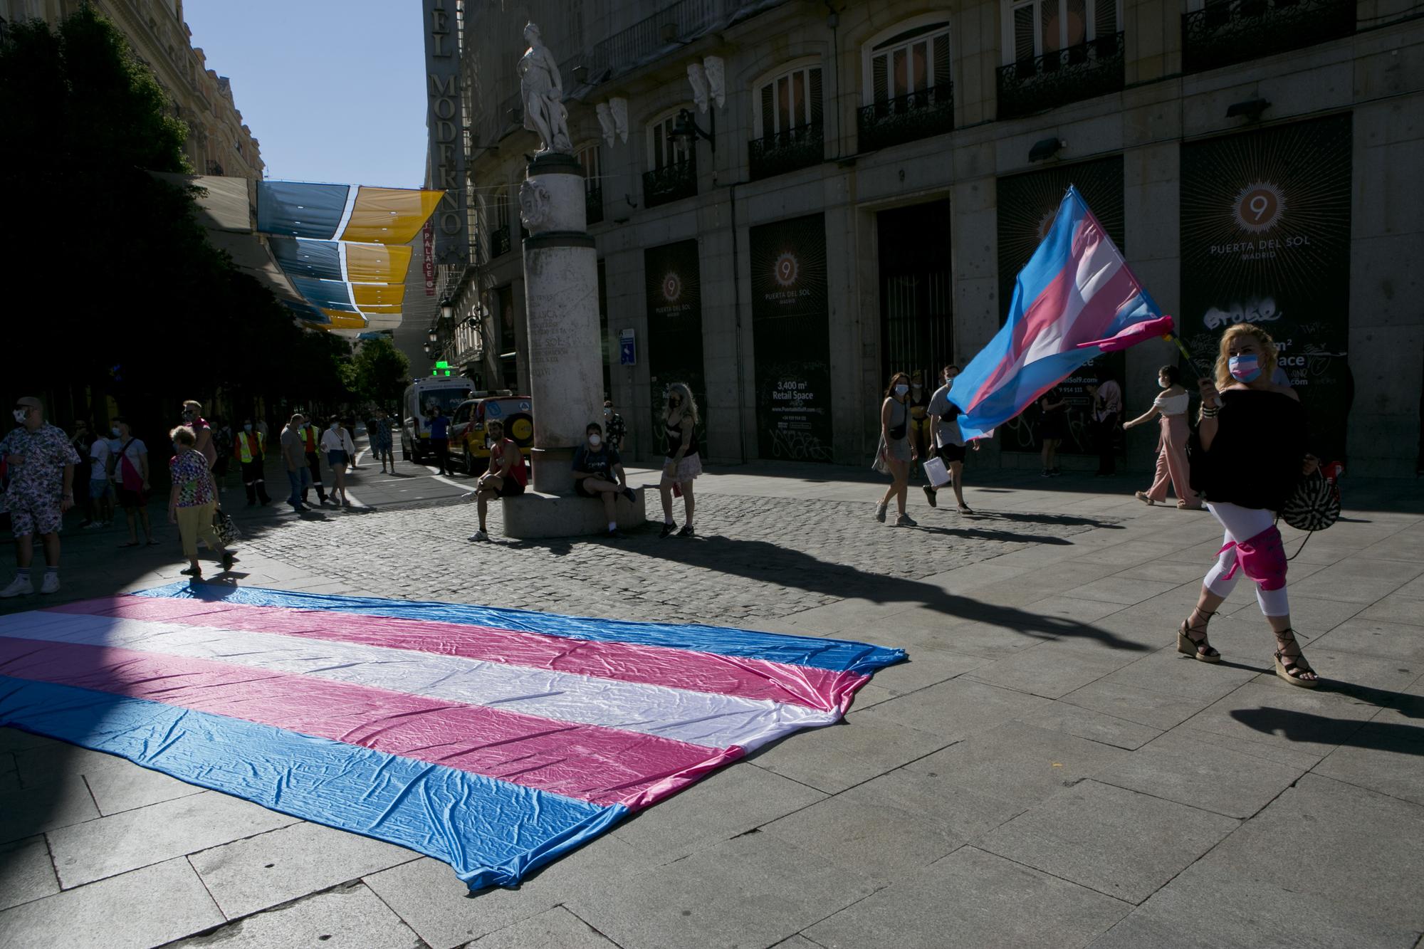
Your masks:
[{"label": "blue, pink and white flag waving in the air on a pole", "polygon": [[[1018,272],[1008,321],[950,390],[964,437],[984,437],[1092,356],[1121,348],[1106,338],[1149,321],[1158,321],[1155,332],[1142,338],[1171,329],[1082,195],[1068,188],[1048,237]],[[1119,339],[1128,338],[1138,341]]]}]

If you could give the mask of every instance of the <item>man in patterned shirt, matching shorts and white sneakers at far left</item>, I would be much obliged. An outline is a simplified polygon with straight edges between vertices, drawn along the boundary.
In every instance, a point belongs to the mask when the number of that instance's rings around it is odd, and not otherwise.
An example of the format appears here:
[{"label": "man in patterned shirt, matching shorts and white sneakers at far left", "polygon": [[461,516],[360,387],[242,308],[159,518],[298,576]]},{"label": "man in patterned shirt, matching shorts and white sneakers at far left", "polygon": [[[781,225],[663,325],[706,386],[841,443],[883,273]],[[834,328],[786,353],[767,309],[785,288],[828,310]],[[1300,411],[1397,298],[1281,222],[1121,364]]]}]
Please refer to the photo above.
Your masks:
[{"label": "man in patterned shirt, matching shorts and white sneakers at far left", "polygon": [[14,403],[14,420],[0,439],[10,487],[6,489],[6,510],[14,533],[14,580],[0,597],[34,593],[30,563],[34,557],[34,536],[44,547],[44,580],[40,593],[60,588],[60,523],[64,512],[74,507],[74,466],[80,455],[64,435],[64,429],[46,423],[43,403],[34,396],[21,396]]}]

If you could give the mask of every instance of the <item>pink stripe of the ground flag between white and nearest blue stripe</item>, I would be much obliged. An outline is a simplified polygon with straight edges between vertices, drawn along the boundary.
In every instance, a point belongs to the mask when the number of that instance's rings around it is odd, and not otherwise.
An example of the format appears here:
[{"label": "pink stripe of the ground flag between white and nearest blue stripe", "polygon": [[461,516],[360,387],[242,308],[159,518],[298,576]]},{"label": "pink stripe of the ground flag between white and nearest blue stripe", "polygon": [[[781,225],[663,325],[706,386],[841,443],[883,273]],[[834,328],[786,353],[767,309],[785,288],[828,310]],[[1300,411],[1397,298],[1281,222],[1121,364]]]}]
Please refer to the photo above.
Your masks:
[{"label": "pink stripe of the ground flag between white and nearest blue stripe", "polygon": [[[0,638],[0,674],[144,698],[638,809],[743,751],[114,647]],[[101,728],[103,722],[95,722]]]}]

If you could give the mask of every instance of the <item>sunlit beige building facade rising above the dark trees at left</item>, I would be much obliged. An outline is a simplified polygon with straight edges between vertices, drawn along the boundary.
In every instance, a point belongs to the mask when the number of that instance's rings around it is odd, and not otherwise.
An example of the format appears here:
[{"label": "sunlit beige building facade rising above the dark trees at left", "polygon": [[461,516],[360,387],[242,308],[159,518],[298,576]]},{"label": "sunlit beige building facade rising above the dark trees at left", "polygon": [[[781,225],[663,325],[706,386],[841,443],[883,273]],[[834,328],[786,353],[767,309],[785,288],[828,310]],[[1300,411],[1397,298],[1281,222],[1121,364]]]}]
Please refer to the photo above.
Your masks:
[{"label": "sunlit beige building facade rising above the dark trees at left", "polygon": [[0,20],[44,20],[54,26],[83,6],[120,28],[188,124],[188,161],[201,175],[261,178],[258,140],[242,123],[232,84],[206,66],[182,19],[182,0],[0,0]]}]

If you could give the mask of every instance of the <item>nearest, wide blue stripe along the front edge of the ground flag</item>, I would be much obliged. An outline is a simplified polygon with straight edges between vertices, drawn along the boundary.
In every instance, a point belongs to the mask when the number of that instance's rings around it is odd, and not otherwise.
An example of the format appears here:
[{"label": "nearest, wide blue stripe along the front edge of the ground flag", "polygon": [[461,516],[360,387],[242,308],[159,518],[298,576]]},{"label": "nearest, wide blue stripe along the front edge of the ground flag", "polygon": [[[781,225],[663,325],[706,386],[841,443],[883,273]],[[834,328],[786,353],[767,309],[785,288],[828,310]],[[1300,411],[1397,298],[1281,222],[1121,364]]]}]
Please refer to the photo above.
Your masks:
[{"label": "nearest, wide blue stripe along the front edge of the ground flag", "polygon": [[0,675],[0,725],[450,864],[471,889],[604,834],[628,808],[142,698]]}]

